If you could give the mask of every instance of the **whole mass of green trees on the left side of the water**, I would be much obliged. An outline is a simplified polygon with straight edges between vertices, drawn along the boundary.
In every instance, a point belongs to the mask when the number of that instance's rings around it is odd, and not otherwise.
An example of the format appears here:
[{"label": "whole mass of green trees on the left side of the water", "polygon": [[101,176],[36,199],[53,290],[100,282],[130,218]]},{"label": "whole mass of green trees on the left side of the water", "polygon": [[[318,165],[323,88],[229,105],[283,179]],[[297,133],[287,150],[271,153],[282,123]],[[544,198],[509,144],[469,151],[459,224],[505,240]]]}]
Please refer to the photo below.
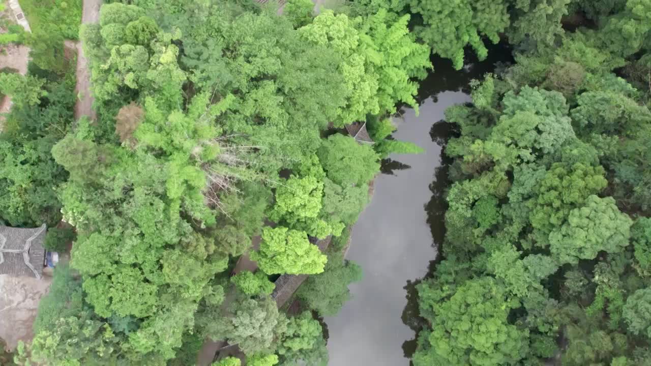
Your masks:
[{"label": "whole mass of green trees on the left side of the water", "polygon": [[[276,16],[245,2],[111,1],[80,33],[98,119],[72,130],[74,77],[61,52],[81,2],[33,5],[51,9],[38,20],[60,19],[35,21],[26,36],[32,76],[2,83],[20,100],[0,142],[9,197],[0,208],[15,225],[72,225],[78,274],[57,270],[51,298],[70,300],[44,300],[21,359],[182,364],[205,336],[238,343],[249,364],[327,359],[320,324],[307,313],[286,320],[265,295],[273,285],[264,272],[323,272],[327,257],[308,234],[339,234],[367,203],[378,154],[322,136],[331,122],[416,106],[429,49],[409,33],[409,16],[312,19],[305,2]],[[283,169],[288,179],[278,178]],[[277,226],[263,231],[266,219]],[[66,242],[55,233],[48,243]],[[227,286],[224,271],[260,233],[251,253],[260,271]],[[324,312],[359,277],[336,261],[314,287]],[[326,287],[333,276],[342,281]]]}]

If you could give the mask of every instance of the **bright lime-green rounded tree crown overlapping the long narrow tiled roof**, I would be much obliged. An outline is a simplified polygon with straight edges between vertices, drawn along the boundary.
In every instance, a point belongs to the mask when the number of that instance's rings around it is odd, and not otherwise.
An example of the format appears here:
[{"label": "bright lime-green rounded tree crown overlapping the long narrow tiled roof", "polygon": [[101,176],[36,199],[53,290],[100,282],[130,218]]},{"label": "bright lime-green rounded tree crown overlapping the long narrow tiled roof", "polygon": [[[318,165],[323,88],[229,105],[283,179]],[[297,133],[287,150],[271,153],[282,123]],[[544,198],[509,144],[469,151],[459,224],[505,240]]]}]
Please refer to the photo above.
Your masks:
[{"label": "bright lime-green rounded tree crown overlapping the long narrow tiled roof", "polygon": [[319,274],[327,261],[305,232],[286,227],[265,228],[260,251],[251,253],[251,259],[267,274]]}]

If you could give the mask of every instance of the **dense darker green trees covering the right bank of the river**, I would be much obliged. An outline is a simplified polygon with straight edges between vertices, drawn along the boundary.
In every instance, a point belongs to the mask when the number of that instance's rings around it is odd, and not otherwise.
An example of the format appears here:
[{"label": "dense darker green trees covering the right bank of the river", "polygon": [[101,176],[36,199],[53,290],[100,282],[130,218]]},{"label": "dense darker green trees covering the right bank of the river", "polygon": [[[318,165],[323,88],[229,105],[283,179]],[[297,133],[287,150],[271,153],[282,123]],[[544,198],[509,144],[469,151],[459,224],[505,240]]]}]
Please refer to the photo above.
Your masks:
[{"label": "dense darker green trees covering the right bank of the river", "polygon": [[[428,324],[415,365],[648,363],[651,119],[612,74],[645,47],[633,38],[646,3],[622,3],[594,3],[596,27],[565,35],[567,1],[512,3],[516,64],[446,112],[460,135],[445,150],[444,260],[417,287]],[[617,37],[632,46],[609,33],[625,16],[637,34]]]}]

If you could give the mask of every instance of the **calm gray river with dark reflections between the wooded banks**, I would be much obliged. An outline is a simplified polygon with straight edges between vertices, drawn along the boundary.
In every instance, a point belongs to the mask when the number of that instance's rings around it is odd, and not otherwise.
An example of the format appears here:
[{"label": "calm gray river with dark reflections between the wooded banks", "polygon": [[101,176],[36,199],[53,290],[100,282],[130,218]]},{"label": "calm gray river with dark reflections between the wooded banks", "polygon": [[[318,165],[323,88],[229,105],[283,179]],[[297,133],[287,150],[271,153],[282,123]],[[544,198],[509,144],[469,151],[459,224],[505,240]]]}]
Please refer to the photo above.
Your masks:
[{"label": "calm gray river with dark reflections between the wooded banks", "polygon": [[443,199],[449,159],[442,154],[454,126],[443,121],[447,107],[470,102],[469,82],[511,61],[510,49],[495,46],[488,60],[469,61],[456,71],[433,59],[434,72],[419,91],[420,113],[401,109],[393,137],[424,148],[418,155],[390,156],[375,181],[371,203],[352,229],[347,258],[364,278],[350,285],[353,299],[325,319],[329,365],[409,365],[422,328],[415,285],[431,274],[445,236]]}]

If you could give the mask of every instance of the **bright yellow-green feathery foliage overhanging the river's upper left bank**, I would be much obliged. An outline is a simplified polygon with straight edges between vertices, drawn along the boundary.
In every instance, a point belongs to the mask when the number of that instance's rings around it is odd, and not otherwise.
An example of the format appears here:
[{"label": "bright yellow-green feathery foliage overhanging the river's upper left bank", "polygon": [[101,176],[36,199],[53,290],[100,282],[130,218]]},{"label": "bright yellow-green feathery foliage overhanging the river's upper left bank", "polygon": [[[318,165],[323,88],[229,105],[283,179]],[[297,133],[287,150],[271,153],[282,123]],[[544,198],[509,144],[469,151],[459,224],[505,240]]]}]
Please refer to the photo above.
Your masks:
[{"label": "bright yellow-green feathery foliage overhanging the river's upper left bank", "polygon": [[324,10],[299,29],[305,40],[342,55],[346,106],[339,109],[335,127],[393,113],[398,100],[416,107],[417,87],[411,78],[424,78],[431,65],[428,48],[409,34],[408,21],[408,15],[398,18],[385,9],[366,20]]}]

